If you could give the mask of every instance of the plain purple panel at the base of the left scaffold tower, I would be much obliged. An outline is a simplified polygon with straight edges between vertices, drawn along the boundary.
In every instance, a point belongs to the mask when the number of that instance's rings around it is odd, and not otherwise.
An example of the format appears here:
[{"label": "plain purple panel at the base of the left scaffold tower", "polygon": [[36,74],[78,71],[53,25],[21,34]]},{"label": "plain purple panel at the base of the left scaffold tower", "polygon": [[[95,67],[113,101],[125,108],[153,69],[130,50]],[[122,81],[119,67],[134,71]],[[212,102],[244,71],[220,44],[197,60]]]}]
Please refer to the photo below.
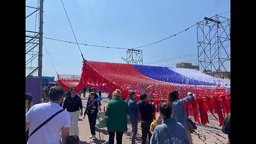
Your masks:
[{"label": "plain purple panel at the base of the left scaffold tower", "polygon": [[41,89],[42,78],[41,77],[26,77],[26,93],[33,95],[33,105],[41,103]]}]

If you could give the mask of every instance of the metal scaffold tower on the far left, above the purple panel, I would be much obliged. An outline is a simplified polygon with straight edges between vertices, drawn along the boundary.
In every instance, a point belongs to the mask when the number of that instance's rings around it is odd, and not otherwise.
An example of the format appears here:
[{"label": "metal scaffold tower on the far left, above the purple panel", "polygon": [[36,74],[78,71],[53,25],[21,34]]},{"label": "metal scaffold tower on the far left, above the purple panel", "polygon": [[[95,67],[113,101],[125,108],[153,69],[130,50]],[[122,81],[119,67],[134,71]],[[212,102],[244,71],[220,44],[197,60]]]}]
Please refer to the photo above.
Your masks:
[{"label": "metal scaffold tower on the far left, above the purple panel", "polygon": [[[35,1],[36,2],[36,1]],[[39,13],[39,14],[38,14]],[[28,15],[27,15],[28,14]],[[35,29],[30,25],[36,18]],[[38,26],[39,24],[39,26]],[[36,31],[38,26],[38,31]],[[29,28],[28,28],[29,27]],[[38,71],[37,76],[42,76],[43,58],[43,0],[38,0],[36,6],[26,3],[26,76],[32,76]]]}]

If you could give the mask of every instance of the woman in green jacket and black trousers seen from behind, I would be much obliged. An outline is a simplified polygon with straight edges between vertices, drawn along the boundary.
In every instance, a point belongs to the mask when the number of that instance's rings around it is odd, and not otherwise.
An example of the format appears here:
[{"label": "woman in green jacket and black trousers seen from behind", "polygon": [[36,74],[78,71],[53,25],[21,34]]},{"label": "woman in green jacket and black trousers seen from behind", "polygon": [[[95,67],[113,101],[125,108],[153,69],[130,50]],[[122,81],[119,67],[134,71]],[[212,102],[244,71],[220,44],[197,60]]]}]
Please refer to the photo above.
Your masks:
[{"label": "woman in green jacket and black trousers seen from behind", "polygon": [[116,89],[112,94],[113,100],[108,102],[105,115],[108,116],[107,128],[109,133],[109,144],[114,144],[115,132],[117,144],[122,144],[122,137],[127,131],[127,119],[129,107],[126,101],[120,99],[121,91]]}]

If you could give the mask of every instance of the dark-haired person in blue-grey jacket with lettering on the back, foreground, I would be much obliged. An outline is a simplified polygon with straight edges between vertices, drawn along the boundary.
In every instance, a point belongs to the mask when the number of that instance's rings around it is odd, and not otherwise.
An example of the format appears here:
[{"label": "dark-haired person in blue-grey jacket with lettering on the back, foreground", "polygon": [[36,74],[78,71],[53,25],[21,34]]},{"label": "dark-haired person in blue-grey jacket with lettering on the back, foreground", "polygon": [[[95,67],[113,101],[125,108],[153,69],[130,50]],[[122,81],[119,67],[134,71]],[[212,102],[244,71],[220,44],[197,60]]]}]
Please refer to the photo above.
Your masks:
[{"label": "dark-haired person in blue-grey jacket with lettering on the back, foreground", "polygon": [[181,123],[171,118],[172,107],[167,102],[159,105],[161,125],[157,125],[151,137],[150,144],[189,144],[187,133]]}]

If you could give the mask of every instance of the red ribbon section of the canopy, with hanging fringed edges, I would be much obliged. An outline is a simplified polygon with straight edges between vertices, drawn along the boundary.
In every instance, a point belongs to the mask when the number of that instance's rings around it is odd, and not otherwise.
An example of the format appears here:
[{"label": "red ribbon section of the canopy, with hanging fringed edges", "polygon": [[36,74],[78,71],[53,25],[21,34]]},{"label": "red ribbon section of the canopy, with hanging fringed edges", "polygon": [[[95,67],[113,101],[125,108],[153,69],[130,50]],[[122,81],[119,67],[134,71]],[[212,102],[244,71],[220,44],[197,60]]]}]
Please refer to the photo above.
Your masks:
[{"label": "red ribbon section of the canopy, with hanging fringed edges", "polygon": [[[111,92],[119,89],[122,92],[122,98],[125,100],[130,90],[136,91],[139,95],[151,85],[147,94],[150,95],[150,102],[156,103],[156,111],[158,111],[159,103],[167,100],[169,92],[173,90],[180,91],[180,99],[186,97],[187,92],[193,92],[198,99],[187,103],[185,109],[187,115],[194,115],[195,122],[198,122],[198,124],[201,124],[201,122],[204,125],[209,123],[207,111],[210,110],[213,115],[213,109],[215,109],[214,113],[217,113],[219,118],[213,116],[219,119],[220,125],[222,125],[224,114],[230,111],[230,91],[226,92],[227,87],[225,86],[214,87],[160,82],[141,74],[132,65],[127,64],[86,61],[83,63],[79,81],[76,79],[58,79],[58,82],[65,91],[72,86],[76,86],[76,90],[79,92],[86,86],[95,87],[104,92],[107,91],[111,95]],[[197,110],[199,110],[201,122]]]}]

